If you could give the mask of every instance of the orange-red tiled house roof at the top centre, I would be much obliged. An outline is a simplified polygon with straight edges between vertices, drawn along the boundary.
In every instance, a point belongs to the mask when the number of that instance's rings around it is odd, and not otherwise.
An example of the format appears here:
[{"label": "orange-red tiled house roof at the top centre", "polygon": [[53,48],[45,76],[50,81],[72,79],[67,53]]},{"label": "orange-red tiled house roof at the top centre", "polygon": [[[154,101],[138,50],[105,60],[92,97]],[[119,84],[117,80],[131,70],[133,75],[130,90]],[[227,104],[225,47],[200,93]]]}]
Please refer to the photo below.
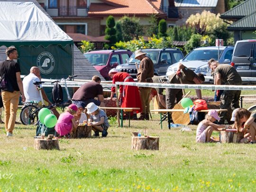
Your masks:
[{"label": "orange-red tiled house roof at the top centre", "polygon": [[161,0],[101,0],[91,3],[88,15],[149,15],[166,14],[160,10]]}]

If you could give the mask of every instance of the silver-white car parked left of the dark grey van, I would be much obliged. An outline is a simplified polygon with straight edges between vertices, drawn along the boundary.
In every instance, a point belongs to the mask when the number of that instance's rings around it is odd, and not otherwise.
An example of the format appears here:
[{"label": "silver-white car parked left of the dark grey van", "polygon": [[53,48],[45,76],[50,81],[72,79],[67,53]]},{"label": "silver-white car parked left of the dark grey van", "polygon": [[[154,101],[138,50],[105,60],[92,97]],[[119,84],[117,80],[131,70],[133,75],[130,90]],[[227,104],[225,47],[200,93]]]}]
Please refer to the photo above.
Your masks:
[{"label": "silver-white car parked left of the dark grey van", "polygon": [[[191,68],[195,73],[201,73],[203,75],[211,75],[211,70],[208,66],[208,61],[211,58],[219,60],[219,63],[230,64],[234,46],[220,46],[218,47],[199,47],[192,50],[185,58],[180,62],[184,66]],[[219,55],[219,57],[218,57]],[[219,58],[219,59],[218,59]],[[176,73],[179,63],[168,67],[166,75]]]}]

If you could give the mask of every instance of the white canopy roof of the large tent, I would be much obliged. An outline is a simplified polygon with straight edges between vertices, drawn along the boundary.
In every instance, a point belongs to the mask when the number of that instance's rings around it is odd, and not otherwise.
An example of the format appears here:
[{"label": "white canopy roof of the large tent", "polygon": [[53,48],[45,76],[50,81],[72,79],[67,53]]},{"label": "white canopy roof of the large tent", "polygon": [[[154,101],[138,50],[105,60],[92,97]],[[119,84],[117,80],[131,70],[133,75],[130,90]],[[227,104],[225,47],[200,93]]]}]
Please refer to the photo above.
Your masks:
[{"label": "white canopy roof of the large tent", "polygon": [[73,40],[33,2],[0,1],[0,46],[73,45]]}]

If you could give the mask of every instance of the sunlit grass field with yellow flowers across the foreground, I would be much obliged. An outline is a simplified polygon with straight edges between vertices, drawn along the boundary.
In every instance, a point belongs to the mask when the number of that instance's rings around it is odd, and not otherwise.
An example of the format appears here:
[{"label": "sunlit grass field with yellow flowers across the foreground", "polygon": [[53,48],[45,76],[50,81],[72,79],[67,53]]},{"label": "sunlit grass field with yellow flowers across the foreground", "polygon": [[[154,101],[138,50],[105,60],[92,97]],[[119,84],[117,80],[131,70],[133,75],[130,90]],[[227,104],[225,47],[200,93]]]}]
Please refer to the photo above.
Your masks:
[{"label": "sunlit grass field with yellow flowers across the foreground", "polygon": [[[198,144],[196,126],[161,130],[158,114],[124,125],[112,123],[107,138],[60,140],[58,151],[34,150],[35,126],[7,138],[1,124],[0,192],[255,191],[256,145]],[[145,128],[159,150],[131,150],[131,132]]]}]

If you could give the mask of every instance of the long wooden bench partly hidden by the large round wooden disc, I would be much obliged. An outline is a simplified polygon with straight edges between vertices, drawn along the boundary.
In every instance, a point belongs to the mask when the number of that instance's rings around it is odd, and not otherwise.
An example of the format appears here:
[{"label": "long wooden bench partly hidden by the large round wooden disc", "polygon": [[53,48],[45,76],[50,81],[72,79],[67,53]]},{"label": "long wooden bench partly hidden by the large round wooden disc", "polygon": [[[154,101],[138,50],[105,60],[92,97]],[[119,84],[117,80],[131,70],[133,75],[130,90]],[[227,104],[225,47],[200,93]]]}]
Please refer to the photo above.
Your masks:
[{"label": "long wooden bench partly hidden by the large round wooden disc", "polygon": [[[206,109],[206,110],[199,110],[198,112],[209,112],[211,109]],[[228,109],[215,109],[218,112],[221,111],[228,111]],[[151,112],[159,112],[160,113],[160,123],[161,123],[161,129],[163,129],[163,125],[162,122],[166,119],[168,119],[168,128],[171,129],[171,112],[183,112],[184,109],[154,109],[154,110],[150,110]],[[162,113],[167,113],[164,116],[164,119],[162,118]],[[175,123],[175,122],[174,122]]]}]

